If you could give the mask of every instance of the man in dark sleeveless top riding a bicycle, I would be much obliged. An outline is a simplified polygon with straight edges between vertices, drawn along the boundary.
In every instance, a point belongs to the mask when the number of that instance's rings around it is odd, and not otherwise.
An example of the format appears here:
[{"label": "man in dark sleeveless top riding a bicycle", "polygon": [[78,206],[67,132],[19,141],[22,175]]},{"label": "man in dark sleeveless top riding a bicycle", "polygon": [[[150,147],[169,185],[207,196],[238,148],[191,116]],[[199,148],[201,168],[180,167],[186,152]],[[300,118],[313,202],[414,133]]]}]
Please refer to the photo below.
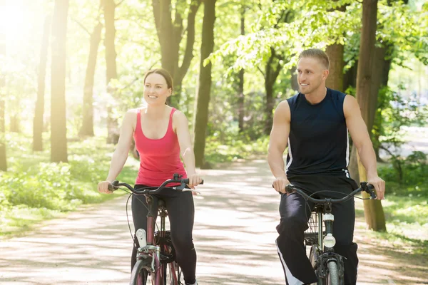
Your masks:
[{"label": "man in dark sleeveless top riding a bicycle", "polygon": [[[349,162],[348,130],[367,170],[367,182],[374,185],[378,199],[384,198],[384,181],[377,175],[376,156],[360,107],[351,95],[326,88],[329,59],[320,49],[300,53],[297,82],[300,93],[282,101],[275,110],[267,155],[273,187],[281,194],[280,224],[277,226],[277,251],[288,285],[317,281],[306,257],[304,232],[310,215],[305,199],[288,195],[285,185],[292,184],[308,193],[320,190],[318,197],[340,198],[357,188],[347,170]],[[287,166],[282,154],[288,145]],[[335,252],[345,261],[345,284],[357,282],[357,244],[353,242],[355,204],[351,199],[333,204]]]}]

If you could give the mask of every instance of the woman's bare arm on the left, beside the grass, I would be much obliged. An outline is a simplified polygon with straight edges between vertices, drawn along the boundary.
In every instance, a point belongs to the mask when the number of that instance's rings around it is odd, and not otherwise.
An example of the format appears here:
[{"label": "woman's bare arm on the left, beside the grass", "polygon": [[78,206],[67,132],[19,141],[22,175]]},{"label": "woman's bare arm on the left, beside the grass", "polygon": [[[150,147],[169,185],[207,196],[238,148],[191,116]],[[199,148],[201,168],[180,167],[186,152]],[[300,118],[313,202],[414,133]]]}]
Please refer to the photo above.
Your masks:
[{"label": "woman's bare arm on the left, beside the grass", "polygon": [[125,165],[126,159],[128,158],[128,152],[132,144],[135,121],[136,114],[133,113],[132,110],[129,110],[123,118],[121,135],[119,136],[116,150],[113,152],[113,157],[111,157],[110,170],[108,171],[107,179],[106,181],[98,183],[98,192],[111,193],[111,191],[108,190],[108,184],[116,179],[122,171],[123,165]]}]

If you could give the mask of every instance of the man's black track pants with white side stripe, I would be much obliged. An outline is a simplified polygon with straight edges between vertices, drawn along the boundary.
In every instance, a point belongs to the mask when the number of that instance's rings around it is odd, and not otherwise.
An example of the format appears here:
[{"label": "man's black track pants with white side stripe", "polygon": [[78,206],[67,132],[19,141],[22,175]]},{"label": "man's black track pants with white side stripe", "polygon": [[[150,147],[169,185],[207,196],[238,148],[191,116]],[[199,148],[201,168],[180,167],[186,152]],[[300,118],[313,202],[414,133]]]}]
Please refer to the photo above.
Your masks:
[{"label": "man's black track pants with white side stripe", "polygon": [[[317,194],[319,199],[325,197],[342,198],[357,188],[354,180],[347,177],[326,176],[295,176],[288,177],[296,187],[307,191],[308,194],[320,190],[332,190]],[[309,259],[306,256],[304,232],[308,228],[307,220],[313,203],[297,193],[289,196],[282,194],[280,202],[281,221],[277,226],[277,251],[285,273],[286,284],[311,284],[317,281]],[[333,236],[336,239],[335,252],[345,257],[345,285],[355,285],[357,282],[357,244],[353,242],[355,224],[354,199],[345,203],[332,204]],[[298,282],[301,283],[298,283]]]}]

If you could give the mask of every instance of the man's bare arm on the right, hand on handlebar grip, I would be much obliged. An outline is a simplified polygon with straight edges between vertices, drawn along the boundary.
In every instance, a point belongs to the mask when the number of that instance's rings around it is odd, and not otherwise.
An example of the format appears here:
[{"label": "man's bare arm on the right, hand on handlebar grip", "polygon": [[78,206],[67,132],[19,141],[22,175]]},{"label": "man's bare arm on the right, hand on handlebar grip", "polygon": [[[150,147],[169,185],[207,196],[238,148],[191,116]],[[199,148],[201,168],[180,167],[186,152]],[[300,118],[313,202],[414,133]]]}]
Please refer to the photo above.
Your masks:
[{"label": "man's bare arm on the right, hand on handlebar grip", "polygon": [[385,182],[377,175],[376,154],[370,140],[367,126],[362,119],[360,105],[351,95],[346,95],[343,103],[346,125],[350,131],[352,142],[357,147],[362,165],[367,171],[367,182],[374,186],[377,199],[384,199]]}]

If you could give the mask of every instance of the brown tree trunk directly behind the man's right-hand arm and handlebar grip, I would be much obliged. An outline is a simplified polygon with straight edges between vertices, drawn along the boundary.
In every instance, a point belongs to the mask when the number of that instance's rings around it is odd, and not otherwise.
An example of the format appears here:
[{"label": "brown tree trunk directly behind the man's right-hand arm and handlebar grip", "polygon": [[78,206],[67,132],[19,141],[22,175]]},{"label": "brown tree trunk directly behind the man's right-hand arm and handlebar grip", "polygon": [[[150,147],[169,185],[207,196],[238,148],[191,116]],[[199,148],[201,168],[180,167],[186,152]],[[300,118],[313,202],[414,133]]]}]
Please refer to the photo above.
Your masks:
[{"label": "brown tree trunk directly behind the man's right-hand arm and handlebar grip", "polygon": [[[360,41],[360,57],[357,69],[357,100],[365,120],[367,130],[372,130],[370,122],[370,98],[372,90],[372,61],[377,23],[377,0],[362,1],[362,32]],[[358,170],[360,180],[367,181],[367,173],[363,167],[360,157],[358,158]],[[368,197],[363,193],[363,197]],[[380,200],[364,201],[365,218],[367,227],[374,231],[386,231],[385,217]]]}]

